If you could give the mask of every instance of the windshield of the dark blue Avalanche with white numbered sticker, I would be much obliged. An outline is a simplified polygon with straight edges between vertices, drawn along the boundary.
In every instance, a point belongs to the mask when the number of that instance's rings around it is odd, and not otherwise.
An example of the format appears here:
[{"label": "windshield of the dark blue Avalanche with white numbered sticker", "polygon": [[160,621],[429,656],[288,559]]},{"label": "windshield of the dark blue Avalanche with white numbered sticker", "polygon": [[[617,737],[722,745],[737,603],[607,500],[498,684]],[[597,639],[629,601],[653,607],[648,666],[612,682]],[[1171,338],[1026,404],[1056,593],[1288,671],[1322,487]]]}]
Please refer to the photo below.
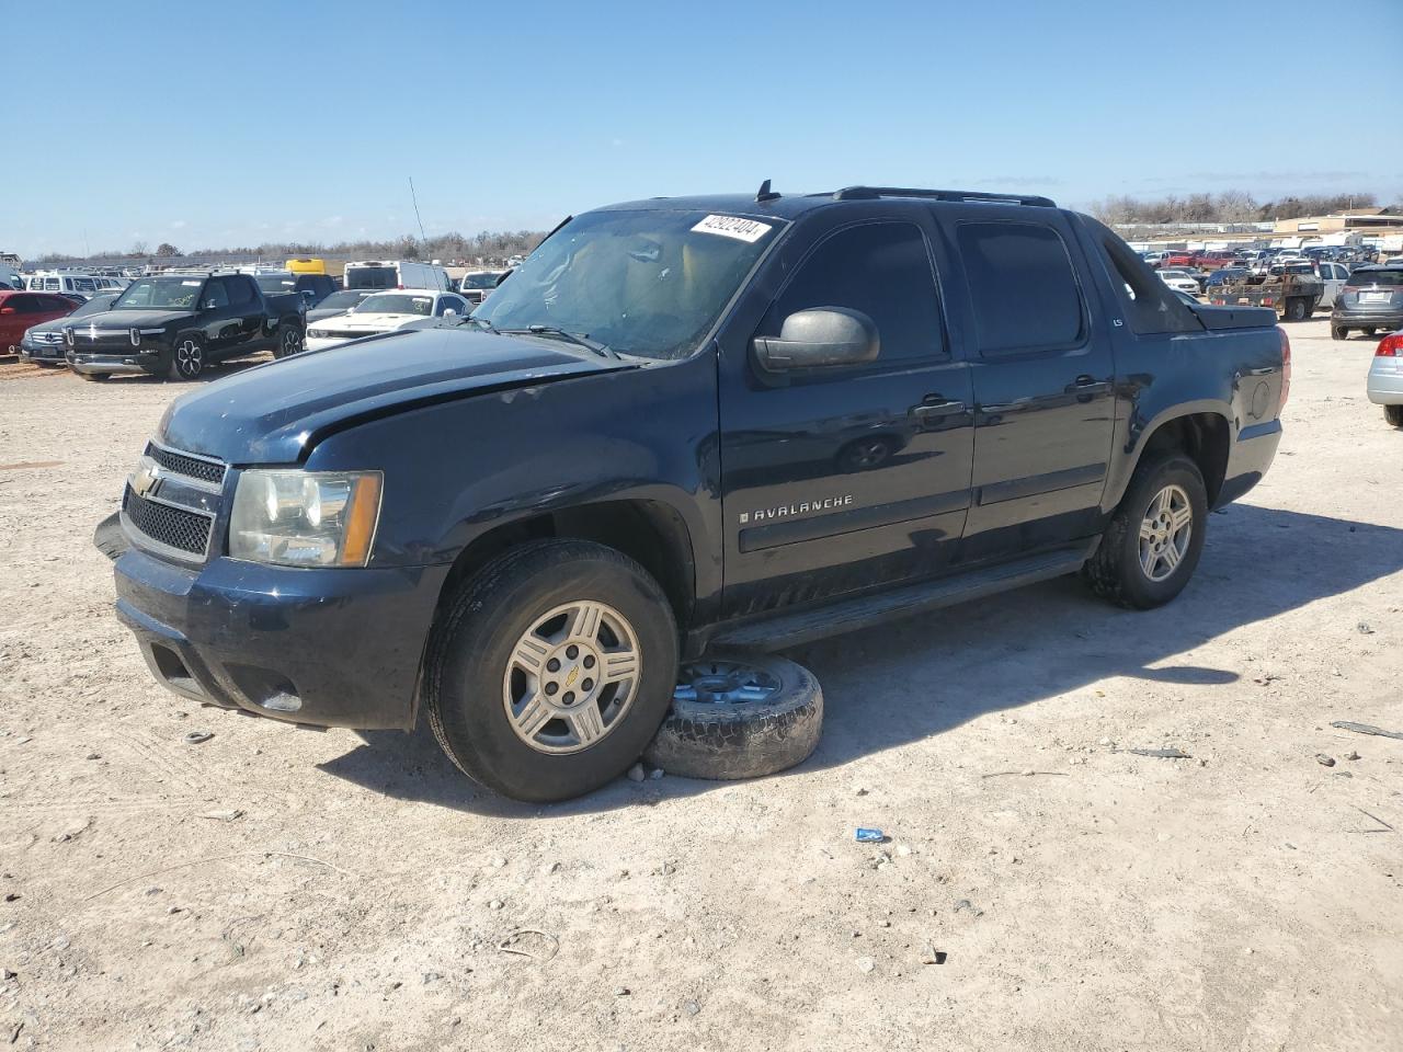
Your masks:
[{"label": "windshield of the dark blue Avalanche with white numbered sticker", "polygon": [[589,212],[546,238],[473,317],[686,358],[780,229],[777,219],[704,212]]}]

